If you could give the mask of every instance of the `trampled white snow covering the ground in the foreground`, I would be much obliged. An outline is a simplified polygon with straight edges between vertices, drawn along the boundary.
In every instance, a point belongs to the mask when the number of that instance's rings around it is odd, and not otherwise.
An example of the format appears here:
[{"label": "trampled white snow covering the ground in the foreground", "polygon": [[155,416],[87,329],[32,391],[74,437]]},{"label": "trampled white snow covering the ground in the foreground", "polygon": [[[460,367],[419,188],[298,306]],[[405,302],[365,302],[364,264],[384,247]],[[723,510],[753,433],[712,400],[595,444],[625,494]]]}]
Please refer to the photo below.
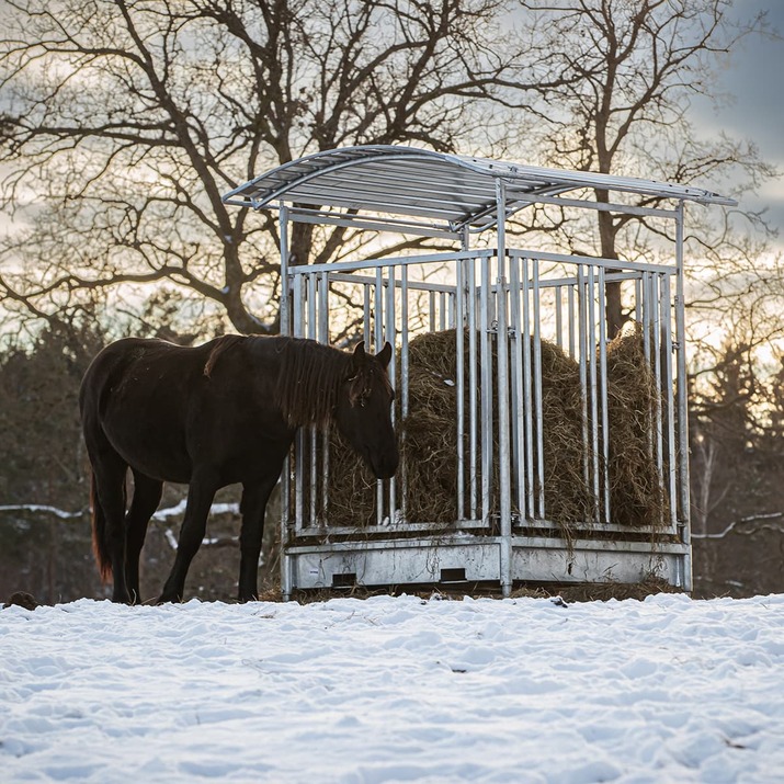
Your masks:
[{"label": "trampled white snow covering the ground in the foreground", "polygon": [[784,781],[784,595],[0,612],[2,782]]}]

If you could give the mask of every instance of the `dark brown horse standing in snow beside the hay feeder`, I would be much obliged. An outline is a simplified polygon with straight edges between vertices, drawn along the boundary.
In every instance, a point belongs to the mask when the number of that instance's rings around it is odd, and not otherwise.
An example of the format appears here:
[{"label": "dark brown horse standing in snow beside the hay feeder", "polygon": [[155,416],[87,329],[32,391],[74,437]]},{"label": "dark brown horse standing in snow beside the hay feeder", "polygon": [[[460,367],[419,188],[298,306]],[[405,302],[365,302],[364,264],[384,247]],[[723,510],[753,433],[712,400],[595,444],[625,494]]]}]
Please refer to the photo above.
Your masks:
[{"label": "dark brown horse standing in snow beside the hay feeder", "polygon": [[[181,601],[218,488],[242,485],[239,600],[257,596],[264,511],[300,425],[334,422],[376,477],[398,451],[391,346],[353,354],[311,340],[226,336],[189,349],[128,338],[106,346],[79,395],[92,464],[93,547],[115,602],[139,601],[139,553],[163,481],[188,484],[174,566],[159,601]],[[126,511],[127,469],[134,495]]]}]

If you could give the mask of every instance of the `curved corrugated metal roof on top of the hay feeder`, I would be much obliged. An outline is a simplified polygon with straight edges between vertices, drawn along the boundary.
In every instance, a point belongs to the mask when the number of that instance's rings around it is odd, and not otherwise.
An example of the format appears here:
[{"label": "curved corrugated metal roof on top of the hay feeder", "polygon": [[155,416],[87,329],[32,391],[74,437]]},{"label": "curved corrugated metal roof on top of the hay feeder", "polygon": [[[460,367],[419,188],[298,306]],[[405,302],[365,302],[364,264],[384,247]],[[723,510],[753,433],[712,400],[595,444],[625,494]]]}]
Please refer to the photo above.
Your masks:
[{"label": "curved corrugated metal roof on top of the hay feeder", "polygon": [[361,212],[404,216],[400,226],[448,231],[467,226],[481,231],[496,220],[498,179],[504,183],[508,214],[535,202],[566,203],[557,196],[581,189],[736,204],[692,186],[382,145],[328,150],[284,163],[234,189],[223,201],[254,209],[287,203],[307,212],[305,205],[313,205],[314,216],[325,216],[325,207],[354,216],[341,223],[360,223],[354,214]]}]

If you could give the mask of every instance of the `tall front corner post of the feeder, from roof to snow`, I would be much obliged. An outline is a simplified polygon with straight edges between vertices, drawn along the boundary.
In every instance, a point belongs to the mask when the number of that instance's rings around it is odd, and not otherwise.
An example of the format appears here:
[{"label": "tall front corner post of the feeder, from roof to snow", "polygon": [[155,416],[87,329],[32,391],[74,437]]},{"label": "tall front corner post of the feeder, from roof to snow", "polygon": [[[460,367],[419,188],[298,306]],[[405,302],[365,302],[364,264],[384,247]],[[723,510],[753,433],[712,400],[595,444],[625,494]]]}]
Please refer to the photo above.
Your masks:
[{"label": "tall front corner post of the feeder, from roof to snow", "polygon": [[[507,196],[503,180],[496,180],[498,237],[498,450],[500,490],[501,593],[512,592],[512,493],[509,454],[509,331],[507,329]],[[492,429],[492,425],[490,425]]]}]

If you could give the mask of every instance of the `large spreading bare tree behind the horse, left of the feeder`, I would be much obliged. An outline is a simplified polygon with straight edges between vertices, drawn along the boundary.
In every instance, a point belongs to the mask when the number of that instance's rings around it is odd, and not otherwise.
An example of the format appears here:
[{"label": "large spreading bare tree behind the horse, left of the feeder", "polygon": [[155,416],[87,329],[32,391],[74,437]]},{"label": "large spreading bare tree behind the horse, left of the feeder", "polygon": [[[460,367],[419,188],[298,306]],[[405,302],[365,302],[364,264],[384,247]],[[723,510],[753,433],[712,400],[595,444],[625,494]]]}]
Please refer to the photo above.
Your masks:
[{"label": "large spreading bare tree behind the horse, left of the feeder", "polygon": [[[86,300],[167,283],[194,313],[275,331],[276,224],[227,208],[221,194],[318,150],[454,149],[509,66],[490,47],[502,4],[4,3],[5,309],[65,318]],[[293,260],[339,258],[356,241],[297,225]]]}]

